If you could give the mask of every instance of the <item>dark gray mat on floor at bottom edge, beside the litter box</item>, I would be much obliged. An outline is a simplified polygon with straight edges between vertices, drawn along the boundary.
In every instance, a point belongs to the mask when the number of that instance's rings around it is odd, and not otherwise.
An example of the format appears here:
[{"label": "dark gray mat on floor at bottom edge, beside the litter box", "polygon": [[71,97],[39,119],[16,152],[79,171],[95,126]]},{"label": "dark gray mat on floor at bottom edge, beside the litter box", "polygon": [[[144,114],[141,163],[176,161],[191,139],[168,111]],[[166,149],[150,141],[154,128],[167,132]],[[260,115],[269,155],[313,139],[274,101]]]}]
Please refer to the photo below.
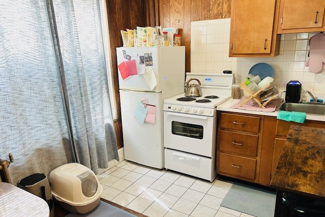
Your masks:
[{"label": "dark gray mat on floor at bottom edge, beside the litter box", "polygon": [[98,206],[86,214],[68,214],[65,217],[136,217],[124,210],[100,201]]}]

